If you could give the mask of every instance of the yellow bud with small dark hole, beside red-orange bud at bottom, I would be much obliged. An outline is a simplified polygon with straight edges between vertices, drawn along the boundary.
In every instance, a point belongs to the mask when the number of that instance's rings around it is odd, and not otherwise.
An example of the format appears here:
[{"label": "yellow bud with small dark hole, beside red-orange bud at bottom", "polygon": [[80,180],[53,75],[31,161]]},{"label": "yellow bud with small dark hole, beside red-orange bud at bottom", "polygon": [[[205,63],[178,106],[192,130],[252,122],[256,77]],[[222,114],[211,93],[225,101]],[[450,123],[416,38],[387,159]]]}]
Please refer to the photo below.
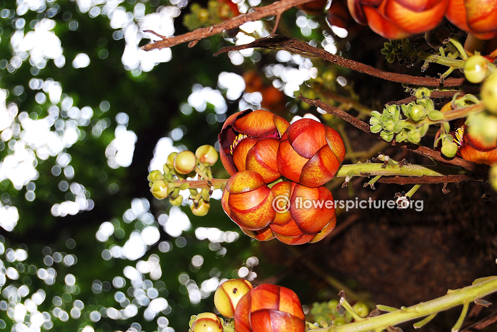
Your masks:
[{"label": "yellow bud with small dark hole, beside red-orange bud at bottom", "polygon": [[235,316],[238,301],[252,288],[252,283],[246,279],[226,280],[218,286],[214,293],[216,309],[225,317]]}]

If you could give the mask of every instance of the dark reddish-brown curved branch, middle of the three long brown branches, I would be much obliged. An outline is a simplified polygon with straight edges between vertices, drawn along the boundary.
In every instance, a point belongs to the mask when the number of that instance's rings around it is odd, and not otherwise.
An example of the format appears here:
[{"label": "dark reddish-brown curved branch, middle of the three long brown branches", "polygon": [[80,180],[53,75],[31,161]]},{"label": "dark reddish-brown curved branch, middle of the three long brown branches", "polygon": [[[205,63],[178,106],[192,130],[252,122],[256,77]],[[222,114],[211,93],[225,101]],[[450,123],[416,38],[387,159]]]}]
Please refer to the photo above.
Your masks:
[{"label": "dark reddish-brown curved branch, middle of the three long brown branches", "polygon": [[299,54],[306,57],[318,57],[323,60],[329,61],[338,66],[349,68],[358,72],[362,72],[371,76],[383,78],[393,82],[407,83],[411,85],[421,85],[421,86],[460,86],[464,82],[464,78],[447,78],[443,82],[439,78],[435,77],[419,77],[406,74],[400,74],[397,72],[389,72],[381,70],[372,66],[364,65],[360,62],[349,60],[331,54],[324,49],[313,47],[309,44],[303,43],[298,39],[290,39],[283,36],[273,36],[257,39],[254,42],[245,45],[228,46],[224,47],[214,55],[219,55],[221,53],[226,53],[229,51],[238,51],[248,48],[266,48],[266,49],[277,49],[285,50],[291,53]]}]

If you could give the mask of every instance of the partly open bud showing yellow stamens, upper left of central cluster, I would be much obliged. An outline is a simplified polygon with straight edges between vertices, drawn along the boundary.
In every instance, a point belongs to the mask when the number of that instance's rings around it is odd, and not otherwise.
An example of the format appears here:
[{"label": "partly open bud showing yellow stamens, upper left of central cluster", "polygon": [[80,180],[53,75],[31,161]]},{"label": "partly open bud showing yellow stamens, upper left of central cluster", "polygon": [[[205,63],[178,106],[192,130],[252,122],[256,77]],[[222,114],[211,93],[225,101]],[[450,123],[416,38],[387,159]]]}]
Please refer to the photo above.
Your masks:
[{"label": "partly open bud showing yellow stamens, upper left of central cluster", "polygon": [[[261,171],[265,183],[277,179],[274,147],[289,125],[282,117],[264,110],[245,110],[228,117],[219,134],[219,155],[226,171],[230,175],[244,170]],[[255,144],[258,140],[264,142]],[[255,151],[248,158],[252,148]]]}]

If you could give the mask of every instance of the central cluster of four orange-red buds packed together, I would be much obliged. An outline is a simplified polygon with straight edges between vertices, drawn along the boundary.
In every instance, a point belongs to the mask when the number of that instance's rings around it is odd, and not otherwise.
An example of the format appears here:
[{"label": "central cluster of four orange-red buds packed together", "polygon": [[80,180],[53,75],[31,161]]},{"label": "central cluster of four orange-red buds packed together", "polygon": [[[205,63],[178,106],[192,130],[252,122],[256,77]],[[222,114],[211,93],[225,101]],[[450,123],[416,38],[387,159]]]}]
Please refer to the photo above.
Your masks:
[{"label": "central cluster of four orange-red buds packed together", "polygon": [[[345,156],[336,131],[311,119],[290,125],[270,112],[247,110],[227,119],[219,139],[221,161],[232,175],[221,203],[244,233],[297,245],[334,229],[333,197],[323,185]],[[291,181],[271,186],[282,176]]]}]

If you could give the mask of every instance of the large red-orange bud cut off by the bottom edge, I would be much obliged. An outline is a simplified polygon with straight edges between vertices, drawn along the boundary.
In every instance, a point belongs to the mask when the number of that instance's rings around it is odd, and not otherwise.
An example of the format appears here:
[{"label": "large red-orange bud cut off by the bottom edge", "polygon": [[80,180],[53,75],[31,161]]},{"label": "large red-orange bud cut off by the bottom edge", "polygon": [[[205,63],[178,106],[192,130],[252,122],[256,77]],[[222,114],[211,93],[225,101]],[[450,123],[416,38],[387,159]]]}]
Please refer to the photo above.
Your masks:
[{"label": "large red-orange bud cut off by the bottom edge", "polygon": [[305,315],[291,289],[262,284],[250,290],[235,310],[237,332],[303,332]]}]

